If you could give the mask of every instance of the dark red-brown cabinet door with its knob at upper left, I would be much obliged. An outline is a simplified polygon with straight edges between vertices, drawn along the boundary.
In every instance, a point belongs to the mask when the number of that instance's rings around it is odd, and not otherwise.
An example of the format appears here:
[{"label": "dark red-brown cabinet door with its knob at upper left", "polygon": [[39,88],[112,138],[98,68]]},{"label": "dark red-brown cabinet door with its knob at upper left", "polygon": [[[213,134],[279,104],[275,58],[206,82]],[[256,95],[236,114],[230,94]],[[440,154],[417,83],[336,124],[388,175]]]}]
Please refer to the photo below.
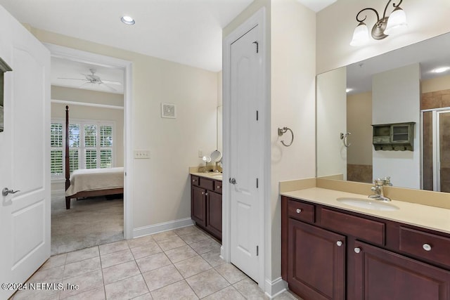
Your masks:
[{"label": "dark red-brown cabinet door with its knob at upper left", "polygon": [[355,299],[450,299],[449,271],[364,242],[354,248]]}]

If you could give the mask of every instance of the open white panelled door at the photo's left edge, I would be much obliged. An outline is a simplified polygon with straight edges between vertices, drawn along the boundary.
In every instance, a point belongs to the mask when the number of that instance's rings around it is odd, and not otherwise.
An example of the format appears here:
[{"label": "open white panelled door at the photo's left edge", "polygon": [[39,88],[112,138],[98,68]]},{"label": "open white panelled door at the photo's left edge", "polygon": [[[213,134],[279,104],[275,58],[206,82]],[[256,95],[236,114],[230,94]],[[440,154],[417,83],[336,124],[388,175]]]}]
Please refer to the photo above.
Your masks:
[{"label": "open white panelled door at the photo's left edge", "polygon": [[[0,6],[0,282],[25,282],[50,256],[50,53]],[[12,287],[13,288],[13,287]],[[7,299],[14,289],[0,289]]]}]

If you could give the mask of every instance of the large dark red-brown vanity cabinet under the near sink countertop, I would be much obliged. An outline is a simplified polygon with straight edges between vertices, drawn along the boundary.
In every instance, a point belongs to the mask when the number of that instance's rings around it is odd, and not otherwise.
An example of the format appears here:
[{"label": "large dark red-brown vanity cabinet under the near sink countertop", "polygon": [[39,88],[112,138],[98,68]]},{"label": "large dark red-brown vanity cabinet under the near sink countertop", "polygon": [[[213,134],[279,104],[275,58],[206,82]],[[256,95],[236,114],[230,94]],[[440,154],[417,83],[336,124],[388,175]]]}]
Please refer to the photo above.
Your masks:
[{"label": "large dark red-brown vanity cabinet under the near sink countertop", "polygon": [[450,299],[445,233],[282,196],[281,252],[304,300]]}]

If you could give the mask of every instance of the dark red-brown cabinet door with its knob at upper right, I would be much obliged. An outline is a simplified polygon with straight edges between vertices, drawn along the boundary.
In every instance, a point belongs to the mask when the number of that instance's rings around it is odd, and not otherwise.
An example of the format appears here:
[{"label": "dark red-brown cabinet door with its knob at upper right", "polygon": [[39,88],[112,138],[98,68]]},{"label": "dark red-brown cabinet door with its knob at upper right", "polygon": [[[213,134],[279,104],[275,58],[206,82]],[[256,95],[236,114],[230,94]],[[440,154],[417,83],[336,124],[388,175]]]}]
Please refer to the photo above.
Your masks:
[{"label": "dark red-brown cabinet door with its knob at upper right", "polygon": [[305,300],[345,299],[345,249],[345,236],[289,219],[289,289]]}]

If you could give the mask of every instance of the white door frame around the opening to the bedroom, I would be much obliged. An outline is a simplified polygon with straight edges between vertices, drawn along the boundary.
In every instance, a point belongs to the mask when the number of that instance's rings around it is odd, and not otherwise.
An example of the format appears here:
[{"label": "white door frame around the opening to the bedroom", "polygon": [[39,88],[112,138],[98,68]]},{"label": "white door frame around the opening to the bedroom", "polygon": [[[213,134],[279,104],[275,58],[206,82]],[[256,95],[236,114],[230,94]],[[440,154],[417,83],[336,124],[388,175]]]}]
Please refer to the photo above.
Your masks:
[{"label": "white door frame around the opening to the bedroom", "polygon": [[73,60],[81,63],[92,63],[103,67],[119,67],[124,69],[124,239],[133,237],[133,198],[131,193],[131,183],[133,178],[133,136],[131,122],[131,87],[132,66],[129,60],[103,56],[96,53],[81,51],[74,48],[58,46],[56,44],[43,43],[49,49],[51,57]]}]

